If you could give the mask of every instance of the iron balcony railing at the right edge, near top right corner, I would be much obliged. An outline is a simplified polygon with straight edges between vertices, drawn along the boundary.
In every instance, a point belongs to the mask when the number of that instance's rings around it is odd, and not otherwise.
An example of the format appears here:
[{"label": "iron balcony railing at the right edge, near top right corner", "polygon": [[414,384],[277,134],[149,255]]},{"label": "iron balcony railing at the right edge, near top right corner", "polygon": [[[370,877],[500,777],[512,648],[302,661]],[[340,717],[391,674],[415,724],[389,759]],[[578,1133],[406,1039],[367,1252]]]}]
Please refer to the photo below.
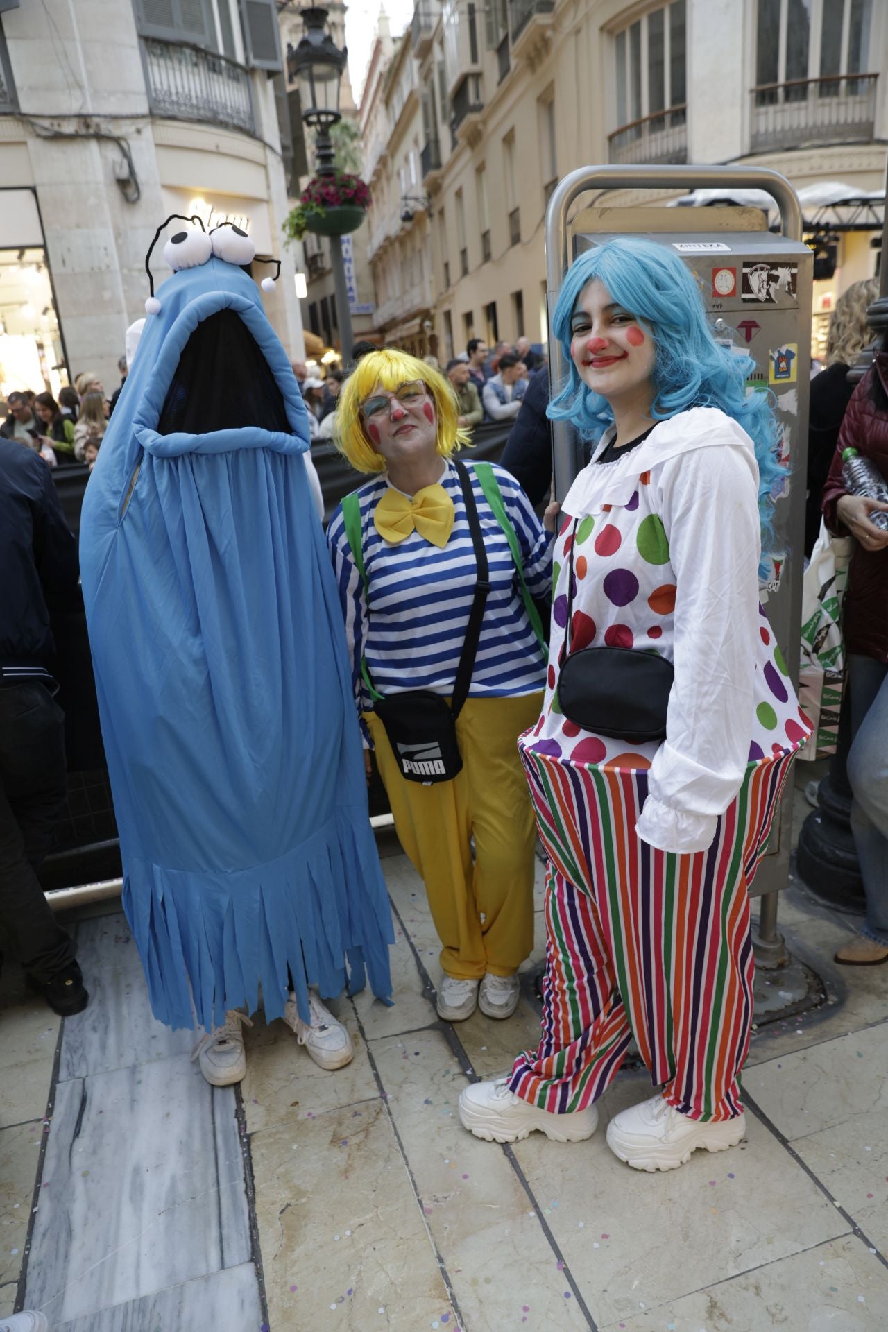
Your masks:
[{"label": "iron balcony railing at the right edge, near top right corner", "polygon": [[879,75],[831,75],[754,88],[751,152],[871,141],[877,79]]}]

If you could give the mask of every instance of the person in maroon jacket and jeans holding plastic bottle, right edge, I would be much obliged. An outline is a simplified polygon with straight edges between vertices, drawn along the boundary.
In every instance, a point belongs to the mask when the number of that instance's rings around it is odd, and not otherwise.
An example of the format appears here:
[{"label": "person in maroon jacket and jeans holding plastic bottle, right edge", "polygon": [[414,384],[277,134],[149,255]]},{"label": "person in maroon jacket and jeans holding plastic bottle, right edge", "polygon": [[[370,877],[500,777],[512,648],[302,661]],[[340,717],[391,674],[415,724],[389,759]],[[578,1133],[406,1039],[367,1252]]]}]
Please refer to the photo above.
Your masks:
[{"label": "person in maroon jacket and jeans holding plastic bottle, right edge", "polygon": [[853,392],[823,514],[855,553],[843,607],[852,745],[851,827],[867,896],[860,934],[836,952],[845,966],[888,962],[888,353],[880,352]]}]

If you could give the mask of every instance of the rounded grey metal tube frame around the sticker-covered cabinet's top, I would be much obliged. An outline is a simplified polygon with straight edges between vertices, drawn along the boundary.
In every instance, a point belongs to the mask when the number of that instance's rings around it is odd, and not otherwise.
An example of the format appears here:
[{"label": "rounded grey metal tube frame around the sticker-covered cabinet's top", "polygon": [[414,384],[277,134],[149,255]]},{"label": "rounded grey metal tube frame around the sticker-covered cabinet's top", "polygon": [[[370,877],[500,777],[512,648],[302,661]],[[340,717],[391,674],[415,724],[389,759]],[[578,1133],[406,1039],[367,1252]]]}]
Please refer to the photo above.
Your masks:
[{"label": "rounded grey metal tube frame around the sticker-covered cabinet's top", "polygon": [[[560,344],[551,336],[553,312],[570,262],[567,210],[590,189],[763,189],[780,209],[783,234],[793,241],[803,236],[801,204],[780,172],[764,166],[619,166],[602,164],[578,166],[555,186],[546,208],[546,304],[549,309],[549,360],[553,386],[564,378]],[[555,496],[563,500],[576,474],[574,437],[568,421],[553,421],[553,472]]]}]

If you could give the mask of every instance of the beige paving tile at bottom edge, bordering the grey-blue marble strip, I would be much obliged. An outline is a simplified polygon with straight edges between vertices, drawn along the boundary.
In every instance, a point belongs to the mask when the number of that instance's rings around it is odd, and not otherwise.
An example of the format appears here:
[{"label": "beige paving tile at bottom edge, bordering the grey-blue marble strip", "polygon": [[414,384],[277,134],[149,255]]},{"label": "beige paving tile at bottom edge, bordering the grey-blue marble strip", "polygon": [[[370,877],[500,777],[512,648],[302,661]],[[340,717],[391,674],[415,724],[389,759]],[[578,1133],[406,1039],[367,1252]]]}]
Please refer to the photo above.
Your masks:
[{"label": "beige paving tile at bottom edge, bordering the grey-blue marble strip", "polygon": [[381,1100],[262,1130],[252,1158],[274,1332],[455,1329]]}]

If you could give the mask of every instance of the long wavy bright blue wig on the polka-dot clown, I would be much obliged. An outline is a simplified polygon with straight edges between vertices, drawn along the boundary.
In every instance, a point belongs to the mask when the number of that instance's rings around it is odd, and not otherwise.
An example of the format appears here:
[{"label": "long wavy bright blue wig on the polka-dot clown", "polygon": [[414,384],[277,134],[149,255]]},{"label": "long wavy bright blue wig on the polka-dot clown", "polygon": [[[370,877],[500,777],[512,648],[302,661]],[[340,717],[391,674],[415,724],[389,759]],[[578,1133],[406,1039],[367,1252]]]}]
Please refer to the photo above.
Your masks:
[{"label": "long wavy bright blue wig on the polka-dot clown", "polygon": [[720,408],[751,437],[759,464],[762,550],[763,555],[770,553],[771,490],[785,474],[777,462],[771,394],[747,397],[746,380],[755,361],[716,342],[694,276],[667,246],[640,237],[619,237],[580,254],[570,265],[553,317],[553,333],[562,345],[570,374],[549,404],[549,417],[571,421],[584,440],[594,442],[614,421],[607,400],[583,384],[570,354],[570,317],[580,292],[594,278],[654,338],[654,420],[664,421],[688,408]]}]

